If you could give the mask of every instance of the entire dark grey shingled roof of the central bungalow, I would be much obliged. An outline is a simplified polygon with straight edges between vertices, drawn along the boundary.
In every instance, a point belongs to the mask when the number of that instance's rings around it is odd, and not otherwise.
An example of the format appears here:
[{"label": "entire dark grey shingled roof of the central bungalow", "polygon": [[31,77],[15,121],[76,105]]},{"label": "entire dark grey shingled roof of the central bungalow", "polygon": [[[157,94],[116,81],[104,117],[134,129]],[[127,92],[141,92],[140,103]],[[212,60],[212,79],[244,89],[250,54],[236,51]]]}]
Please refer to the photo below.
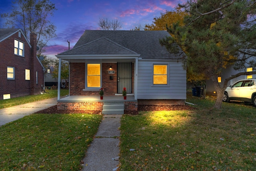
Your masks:
[{"label": "entire dark grey shingled roof of the central bungalow", "polygon": [[144,59],[177,59],[159,43],[167,31],[85,30],[72,50],[58,55],[140,54]]}]

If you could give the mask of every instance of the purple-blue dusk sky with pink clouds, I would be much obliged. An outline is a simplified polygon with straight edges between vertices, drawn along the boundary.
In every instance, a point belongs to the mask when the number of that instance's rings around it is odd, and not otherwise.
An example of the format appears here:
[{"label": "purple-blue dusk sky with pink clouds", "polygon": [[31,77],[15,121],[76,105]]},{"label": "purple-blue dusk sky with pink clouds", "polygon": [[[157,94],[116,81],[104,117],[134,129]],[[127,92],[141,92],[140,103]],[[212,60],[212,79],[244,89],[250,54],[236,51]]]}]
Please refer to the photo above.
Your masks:
[{"label": "purple-blue dusk sky with pink clouds", "polygon": [[[130,30],[135,26],[152,24],[154,17],[161,12],[174,10],[178,3],[186,0],[51,0],[57,10],[50,20],[57,27],[57,38],[50,40],[47,51],[48,57],[72,48],[84,30],[100,30],[99,18],[117,19],[122,24],[121,30]],[[1,0],[0,13],[9,12],[12,0]],[[0,28],[3,26],[0,21]]]}]

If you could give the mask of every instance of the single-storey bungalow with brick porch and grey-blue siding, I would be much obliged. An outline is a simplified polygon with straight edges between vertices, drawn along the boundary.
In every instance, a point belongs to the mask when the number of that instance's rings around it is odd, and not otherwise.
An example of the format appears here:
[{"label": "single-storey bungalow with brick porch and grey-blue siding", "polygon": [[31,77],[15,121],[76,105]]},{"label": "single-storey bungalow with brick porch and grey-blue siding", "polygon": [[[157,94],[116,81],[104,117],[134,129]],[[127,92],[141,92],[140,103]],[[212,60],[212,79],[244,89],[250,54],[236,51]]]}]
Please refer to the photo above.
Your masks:
[{"label": "single-storey bungalow with brick porch and grey-blue siding", "polygon": [[[58,85],[61,60],[70,65],[69,96],[60,99],[59,86],[57,108],[115,114],[137,110],[138,105],[184,104],[185,54],[172,54],[161,46],[159,40],[166,36],[167,31],[86,30],[72,50],[56,55]],[[124,87],[127,99],[122,97]]]}]

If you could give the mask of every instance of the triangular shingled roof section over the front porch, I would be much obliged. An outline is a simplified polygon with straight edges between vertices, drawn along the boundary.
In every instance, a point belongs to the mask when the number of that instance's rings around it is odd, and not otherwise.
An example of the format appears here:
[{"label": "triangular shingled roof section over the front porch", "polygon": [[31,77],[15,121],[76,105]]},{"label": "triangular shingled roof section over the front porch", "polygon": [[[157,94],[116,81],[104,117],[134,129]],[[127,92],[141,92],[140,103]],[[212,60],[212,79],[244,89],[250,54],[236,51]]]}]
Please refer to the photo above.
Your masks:
[{"label": "triangular shingled roof section over the front porch", "polygon": [[90,54],[90,55],[128,55],[128,54],[137,54],[112,40],[102,37],[92,42],[88,42],[81,46],[76,46],[72,50],[68,50],[66,52],[62,52],[61,54],[65,55],[82,55],[82,54]]}]

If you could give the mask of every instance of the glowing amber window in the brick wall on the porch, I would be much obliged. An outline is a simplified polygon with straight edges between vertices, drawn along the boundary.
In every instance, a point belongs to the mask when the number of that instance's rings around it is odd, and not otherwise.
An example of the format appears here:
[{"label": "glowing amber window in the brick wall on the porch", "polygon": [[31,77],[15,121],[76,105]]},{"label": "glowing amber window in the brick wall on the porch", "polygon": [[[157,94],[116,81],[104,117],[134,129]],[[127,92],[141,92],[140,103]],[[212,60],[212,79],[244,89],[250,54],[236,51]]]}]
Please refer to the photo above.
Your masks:
[{"label": "glowing amber window in the brick wall on the porch", "polygon": [[100,64],[87,64],[87,87],[100,87]]}]

